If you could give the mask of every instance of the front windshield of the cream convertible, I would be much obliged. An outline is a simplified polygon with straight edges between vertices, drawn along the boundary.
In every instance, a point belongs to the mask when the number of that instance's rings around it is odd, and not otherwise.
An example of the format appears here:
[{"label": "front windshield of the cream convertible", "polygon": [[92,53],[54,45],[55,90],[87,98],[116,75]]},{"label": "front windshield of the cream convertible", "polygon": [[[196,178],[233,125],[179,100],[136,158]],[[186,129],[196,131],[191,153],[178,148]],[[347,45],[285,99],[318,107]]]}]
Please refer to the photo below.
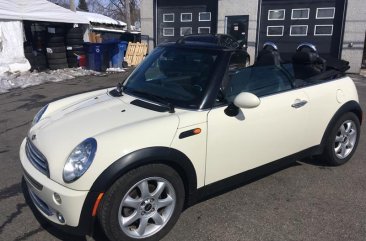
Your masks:
[{"label": "front windshield of the cream convertible", "polygon": [[214,50],[158,47],[131,74],[123,90],[161,104],[197,109],[218,55]]}]

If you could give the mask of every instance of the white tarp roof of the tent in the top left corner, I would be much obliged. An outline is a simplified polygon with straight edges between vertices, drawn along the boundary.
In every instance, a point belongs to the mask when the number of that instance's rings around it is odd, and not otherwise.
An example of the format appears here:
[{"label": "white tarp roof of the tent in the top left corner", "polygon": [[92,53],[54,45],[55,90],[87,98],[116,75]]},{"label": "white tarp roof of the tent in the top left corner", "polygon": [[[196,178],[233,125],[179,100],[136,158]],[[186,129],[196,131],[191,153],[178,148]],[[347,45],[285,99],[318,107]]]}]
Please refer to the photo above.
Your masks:
[{"label": "white tarp roof of the tent in the top left corner", "polygon": [[1,19],[89,24],[85,17],[46,0],[0,0]]}]

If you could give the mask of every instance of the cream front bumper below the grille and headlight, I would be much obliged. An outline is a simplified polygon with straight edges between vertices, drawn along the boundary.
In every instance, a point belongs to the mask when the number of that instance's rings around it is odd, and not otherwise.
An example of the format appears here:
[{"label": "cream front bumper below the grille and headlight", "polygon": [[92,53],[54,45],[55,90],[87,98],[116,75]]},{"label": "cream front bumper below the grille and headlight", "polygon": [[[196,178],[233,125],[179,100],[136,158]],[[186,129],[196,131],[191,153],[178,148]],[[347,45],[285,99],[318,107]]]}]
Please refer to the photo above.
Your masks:
[{"label": "cream front bumper below the grille and headlight", "polygon": [[[90,201],[87,199],[94,195],[90,195],[88,191],[66,188],[38,171],[27,158],[25,143],[24,139],[19,156],[29,197],[34,206],[47,220],[57,226],[70,226],[71,228],[85,226],[81,224],[81,219],[85,219],[83,215],[85,216],[86,213],[89,213],[89,217],[86,219],[92,219],[91,211],[87,210],[90,208]],[[59,195],[61,202],[57,201],[55,193]],[[59,215],[62,215],[63,218],[60,219]]]}]

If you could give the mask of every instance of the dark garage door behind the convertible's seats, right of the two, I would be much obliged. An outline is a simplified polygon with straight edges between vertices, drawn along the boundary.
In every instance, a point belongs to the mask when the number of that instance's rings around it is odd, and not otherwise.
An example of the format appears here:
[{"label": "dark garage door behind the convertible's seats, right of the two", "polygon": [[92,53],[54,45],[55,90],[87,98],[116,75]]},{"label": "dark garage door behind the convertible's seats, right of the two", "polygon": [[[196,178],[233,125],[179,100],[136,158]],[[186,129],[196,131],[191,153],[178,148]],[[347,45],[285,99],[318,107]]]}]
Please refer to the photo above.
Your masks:
[{"label": "dark garage door behind the convertible's seats, right of the two", "polygon": [[291,58],[303,42],[314,44],[325,57],[341,54],[346,0],[263,0],[258,48],[266,41]]}]

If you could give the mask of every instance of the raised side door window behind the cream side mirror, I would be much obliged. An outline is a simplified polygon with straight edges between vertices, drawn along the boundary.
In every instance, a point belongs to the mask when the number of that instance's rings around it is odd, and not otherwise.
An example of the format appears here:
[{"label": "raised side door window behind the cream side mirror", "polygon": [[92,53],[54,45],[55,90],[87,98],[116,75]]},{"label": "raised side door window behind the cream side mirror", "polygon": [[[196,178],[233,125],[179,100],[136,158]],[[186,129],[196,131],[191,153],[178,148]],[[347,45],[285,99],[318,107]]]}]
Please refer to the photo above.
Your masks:
[{"label": "raised side door window behind the cream side mirror", "polygon": [[292,88],[291,79],[285,69],[276,65],[237,68],[230,62],[223,81],[222,94],[232,102],[239,93],[250,92],[258,97],[276,94]]}]

